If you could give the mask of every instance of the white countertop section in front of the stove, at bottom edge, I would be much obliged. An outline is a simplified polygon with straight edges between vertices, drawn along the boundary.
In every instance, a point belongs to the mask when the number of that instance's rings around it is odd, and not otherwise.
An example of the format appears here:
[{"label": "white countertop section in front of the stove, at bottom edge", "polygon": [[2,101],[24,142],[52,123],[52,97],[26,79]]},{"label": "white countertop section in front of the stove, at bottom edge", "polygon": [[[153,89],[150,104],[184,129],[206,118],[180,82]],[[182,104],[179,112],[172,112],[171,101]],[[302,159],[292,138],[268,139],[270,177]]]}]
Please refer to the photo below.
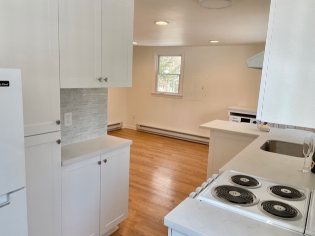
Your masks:
[{"label": "white countertop section in front of the stove, at bottom edge", "polygon": [[188,236],[301,236],[191,198],[167,214],[164,225]]}]

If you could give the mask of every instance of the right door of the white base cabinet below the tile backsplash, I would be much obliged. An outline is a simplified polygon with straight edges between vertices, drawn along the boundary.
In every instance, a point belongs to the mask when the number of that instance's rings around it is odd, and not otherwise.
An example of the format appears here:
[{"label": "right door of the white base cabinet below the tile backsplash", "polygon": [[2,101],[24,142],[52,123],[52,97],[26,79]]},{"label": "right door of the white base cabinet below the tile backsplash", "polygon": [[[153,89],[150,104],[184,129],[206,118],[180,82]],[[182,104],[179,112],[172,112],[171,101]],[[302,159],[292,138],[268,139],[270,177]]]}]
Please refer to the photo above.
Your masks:
[{"label": "right door of the white base cabinet below the tile backsplash", "polygon": [[127,218],[130,146],[101,155],[100,235]]}]

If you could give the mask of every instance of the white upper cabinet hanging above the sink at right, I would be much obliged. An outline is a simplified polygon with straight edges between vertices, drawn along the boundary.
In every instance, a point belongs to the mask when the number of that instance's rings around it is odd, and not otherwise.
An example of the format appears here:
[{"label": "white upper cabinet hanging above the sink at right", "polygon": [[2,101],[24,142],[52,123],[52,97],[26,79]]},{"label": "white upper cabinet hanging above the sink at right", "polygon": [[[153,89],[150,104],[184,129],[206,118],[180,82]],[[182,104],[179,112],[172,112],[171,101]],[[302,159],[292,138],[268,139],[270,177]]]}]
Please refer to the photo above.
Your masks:
[{"label": "white upper cabinet hanging above the sink at right", "polygon": [[315,128],[315,1],[272,0],[257,119]]}]

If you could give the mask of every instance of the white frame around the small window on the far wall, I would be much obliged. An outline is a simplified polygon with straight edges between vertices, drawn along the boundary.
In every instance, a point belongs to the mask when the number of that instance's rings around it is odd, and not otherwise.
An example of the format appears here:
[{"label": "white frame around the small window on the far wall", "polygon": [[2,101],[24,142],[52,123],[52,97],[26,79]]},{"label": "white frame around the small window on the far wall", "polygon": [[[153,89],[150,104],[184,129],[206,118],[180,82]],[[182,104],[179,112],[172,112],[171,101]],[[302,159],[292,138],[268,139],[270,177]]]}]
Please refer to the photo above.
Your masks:
[{"label": "white frame around the small window on the far wall", "polygon": [[[179,76],[178,84],[178,93],[167,93],[167,92],[158,92],[158,57],[159,56],[181,56],[181,72]],[[152,95],[158,97],[167,97],[167,98],[177,98],[181,99],[183,97],[183,80],[184,80],[184,62],[185,62],[185,52],[184,51],[159,51],[154,52],[154,80],[152,86]]]}]

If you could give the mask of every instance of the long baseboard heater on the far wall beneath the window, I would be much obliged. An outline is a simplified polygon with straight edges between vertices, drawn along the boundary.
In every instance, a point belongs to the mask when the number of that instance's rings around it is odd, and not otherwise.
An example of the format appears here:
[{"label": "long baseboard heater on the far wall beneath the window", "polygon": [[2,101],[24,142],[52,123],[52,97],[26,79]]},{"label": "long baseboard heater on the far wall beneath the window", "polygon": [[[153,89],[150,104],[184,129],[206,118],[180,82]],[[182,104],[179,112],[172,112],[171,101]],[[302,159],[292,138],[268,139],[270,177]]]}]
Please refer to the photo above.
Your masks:
[{"label": "long baseboard heater on the far wall beneath the window", "polygon": [[145,126],[145,125],[139,125],[139,124],[136,125],[136,129],[137,131],[142,131],[142,132],[146,132],[150,134],[173,137],[173,138],[183,139],[183,140],[187,140],[191,142],[202,143],[202,144],[209,144],[209,137],[190,135],[190,134],[185,134],[182,132],[164,130],[164,129],[159,129],[159,128]]}]

